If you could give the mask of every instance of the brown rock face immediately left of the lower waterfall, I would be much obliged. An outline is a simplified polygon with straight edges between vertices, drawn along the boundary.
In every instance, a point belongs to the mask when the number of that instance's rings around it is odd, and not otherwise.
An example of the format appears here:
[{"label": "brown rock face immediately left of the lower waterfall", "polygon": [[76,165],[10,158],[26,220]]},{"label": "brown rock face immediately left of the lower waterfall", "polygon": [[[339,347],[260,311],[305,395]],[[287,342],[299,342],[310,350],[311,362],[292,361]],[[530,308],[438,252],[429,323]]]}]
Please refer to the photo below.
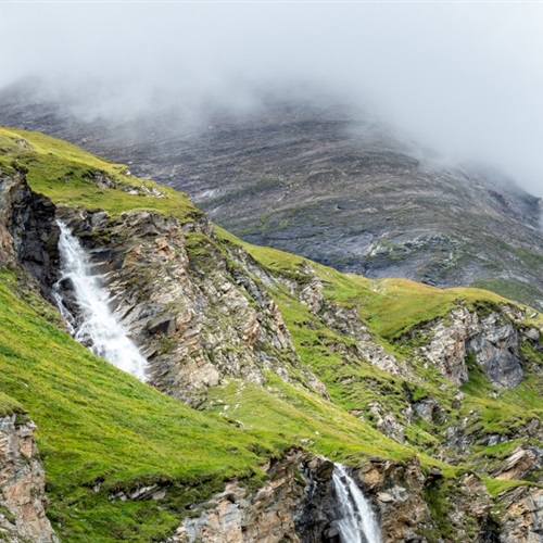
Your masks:
[{"label": "brown rock face immediately left of the lower waterfall", "polygon": [[202,515],[186,520],[174,542],[339,543],[338,496],[333,464],[326,458],[291,451],[266,467],[269,481],[249,493],[237,482],[201,504]]}]

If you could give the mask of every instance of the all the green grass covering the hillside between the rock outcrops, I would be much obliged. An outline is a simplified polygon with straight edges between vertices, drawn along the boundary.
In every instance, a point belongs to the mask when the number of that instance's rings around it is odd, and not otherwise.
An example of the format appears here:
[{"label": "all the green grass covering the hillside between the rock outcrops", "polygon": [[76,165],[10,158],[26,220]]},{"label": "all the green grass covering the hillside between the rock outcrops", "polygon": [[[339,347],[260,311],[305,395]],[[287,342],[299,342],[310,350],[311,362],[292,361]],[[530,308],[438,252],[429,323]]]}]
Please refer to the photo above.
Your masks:
[{"label": "all the green grass covering the hillside between the rock outcrops", "polygon": [[[181,223],[203,219],[182,193],[136,179],[126,166],[39,134],[0,129],[0,168],[7,174],[25,172],[33,190],[56,204],[103,209],[111,214],[149,209]],[[99,188],[97,172],[115,188]],[[202,233],[187,237],[190,257],[205,260],[210,240]],[[401,279],[343,275],[305,258],[242,243],[219,228],[212,242],[225,254],[231,248],[244,248],[277,278],[267,288],[281,308],[299,355],[327,386],[331,401],[269,375],[265,387],[226,380],[210,391],[203,406],[206,412],[189,408],[73,341],[62,331],[55,311],[25,291],[15,272],[2,270],[0,413],[25,416],[27,412],[38,425],[51,501],[48,514],[63,541],[165,539],[188,514],[189,504],[223,489],[233,477],[251,485],[262,482],[258,466],[291,446],[303,445],[357,465],[371,456],[397,462],[418,456],[424,468],[439,466],[450,477],[480,468],[494,493],[523,484],[488,477],[487,459],[510,450],[479,445],[477,437],[506,433],[532,418],[541,420],[543,377],[536,371],[543,365],[541,351],[525,345],[527,379],[508,391],[494,390],[477,368],[470,368],[470,382],[459,404],[457,389],[417,362],[416,340],[409,336],[458,304],[488,311],[505,303],[504,299],[479,289],[439,290]],[[286,287],[286,281],[303,286],[307,266],[323,282],[325,299],[354,308],[376,341],[409,365],[414,380],[342,354],[353,342],[328,328]],[[527,325],[543,326],[540,315],[529,314]],[[447,426],[470,418],[468,432],[476,445],[469,457],[454,465],[437,459],[443,420],[414,421],[406,427],[404,444],[375,429],[367,408],[370,402],[381,402],[400,418],[407,405],[426,397],[440,403]],[[167,489],[164,500],[108,500],[115,492],[153,483]]]}]

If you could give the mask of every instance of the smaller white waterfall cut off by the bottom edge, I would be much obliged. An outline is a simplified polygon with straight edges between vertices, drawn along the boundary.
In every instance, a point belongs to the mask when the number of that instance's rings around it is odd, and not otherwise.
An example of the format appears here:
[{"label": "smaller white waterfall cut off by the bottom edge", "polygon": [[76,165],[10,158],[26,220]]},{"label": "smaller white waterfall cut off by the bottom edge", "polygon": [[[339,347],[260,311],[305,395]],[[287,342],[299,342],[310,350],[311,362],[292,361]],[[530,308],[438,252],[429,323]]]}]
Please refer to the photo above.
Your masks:
[{"label": "smaller white waterfall cut off by the bottom edge", "polygon": [[333,465],[333,488],[338,496],[336,521],[342,543],[380,543],[380,530],[369,502],[341,464]]}]

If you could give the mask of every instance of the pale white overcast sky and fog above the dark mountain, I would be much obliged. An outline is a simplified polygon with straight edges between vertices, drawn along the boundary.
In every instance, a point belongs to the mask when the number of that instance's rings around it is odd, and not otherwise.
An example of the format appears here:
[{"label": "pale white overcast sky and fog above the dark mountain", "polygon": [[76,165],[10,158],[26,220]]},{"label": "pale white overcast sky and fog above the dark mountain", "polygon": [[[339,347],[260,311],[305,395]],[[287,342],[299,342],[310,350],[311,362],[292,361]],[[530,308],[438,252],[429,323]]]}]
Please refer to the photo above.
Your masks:
[{"label": "pale white overcast sky and fog above the dark mountain", "polygon": [[313,81],[543,197],[543,3],[0,3],[0,51],[105,112]]}]

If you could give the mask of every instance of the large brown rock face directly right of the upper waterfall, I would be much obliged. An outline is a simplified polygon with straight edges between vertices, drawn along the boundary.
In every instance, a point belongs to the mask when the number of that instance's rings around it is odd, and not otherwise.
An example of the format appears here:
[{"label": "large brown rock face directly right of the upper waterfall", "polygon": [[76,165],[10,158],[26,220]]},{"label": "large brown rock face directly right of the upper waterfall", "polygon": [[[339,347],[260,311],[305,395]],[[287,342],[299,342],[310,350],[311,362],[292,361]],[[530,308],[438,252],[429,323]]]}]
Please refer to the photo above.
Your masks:
[{"label": "large brown rock face directly right of the upper waterfall", "polygon": [[[224,377],[262,384],[269,370],[289,381],[295,366],[305,386],[326,394],[303,367],[261,279],[245,270],[249,255],[222,251],[205,220],[181,225],[147,211],[115,219],[67,207],[58,213],[103,273],[116,317],[149,362],[149,383],[198,405]],[[263,269],[258,275],[272,281]]]}]

